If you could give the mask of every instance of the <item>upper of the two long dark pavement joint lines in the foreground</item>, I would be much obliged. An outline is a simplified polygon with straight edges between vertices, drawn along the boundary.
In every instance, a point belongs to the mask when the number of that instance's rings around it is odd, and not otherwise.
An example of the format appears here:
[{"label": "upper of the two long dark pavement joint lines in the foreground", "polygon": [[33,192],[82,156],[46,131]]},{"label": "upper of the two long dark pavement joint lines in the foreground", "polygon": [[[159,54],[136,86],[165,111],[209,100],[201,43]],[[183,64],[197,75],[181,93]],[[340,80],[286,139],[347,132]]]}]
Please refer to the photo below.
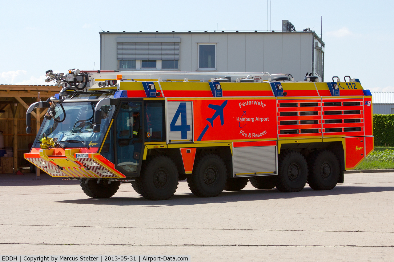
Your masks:
[{"label": "upper of the two long dark pavement joint lines in the foreground", "polygon": [[[124,228],[124,229],[177,229],[177,230],[234,230],[234,231],[289,231],[289,232],[349,232],[349,233],[394,233],[394,231],[340,231],[340,230],[294,230],[294,229],[226,229],[226,228],[166,228],[166,227],[98,227],[98,226],[78,226],[78,225],[17,225],[0,224],[6,226],[27,226],[27,227],[91,227],[91,228]],[[1,244],[1,243],[0,243]]]}]

